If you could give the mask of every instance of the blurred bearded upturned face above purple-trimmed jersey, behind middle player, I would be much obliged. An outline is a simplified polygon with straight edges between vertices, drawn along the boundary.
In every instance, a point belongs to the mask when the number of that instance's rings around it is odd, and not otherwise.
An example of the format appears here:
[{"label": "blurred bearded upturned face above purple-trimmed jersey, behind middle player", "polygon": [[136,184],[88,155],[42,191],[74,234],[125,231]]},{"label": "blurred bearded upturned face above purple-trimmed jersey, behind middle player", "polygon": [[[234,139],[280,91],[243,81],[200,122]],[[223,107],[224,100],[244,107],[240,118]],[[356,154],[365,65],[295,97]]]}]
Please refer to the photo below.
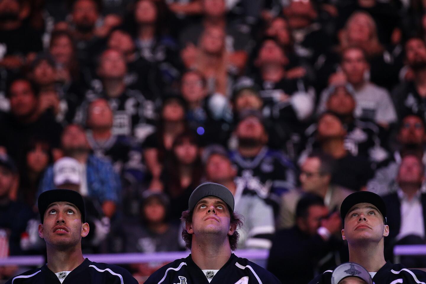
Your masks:
[{"label": "blurred bearded upturned face above purple-trimmed jersey, behind middle player", "polygon": [[255,116],[241,120],[236,128],[236,135],[239,146],[260,146],[268,141],[265,126]]}]

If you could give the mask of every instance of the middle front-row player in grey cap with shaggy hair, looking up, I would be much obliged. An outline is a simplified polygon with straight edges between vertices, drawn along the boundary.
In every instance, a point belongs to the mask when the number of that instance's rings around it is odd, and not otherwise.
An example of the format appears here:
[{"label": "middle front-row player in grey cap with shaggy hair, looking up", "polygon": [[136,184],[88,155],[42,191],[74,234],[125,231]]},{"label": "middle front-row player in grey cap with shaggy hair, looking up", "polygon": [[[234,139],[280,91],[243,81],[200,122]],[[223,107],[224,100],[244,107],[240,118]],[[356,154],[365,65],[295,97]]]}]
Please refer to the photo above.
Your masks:
[{"label": "middle front-row player in grey cap with shaggy hair, looking up", "polygon": [[225,186],[198,186],[182,212],[182,237],[191,254],[161,267],[145,284],[279,284],[262,267],[232,253],[241,224],[234,212],[234,198]]}]

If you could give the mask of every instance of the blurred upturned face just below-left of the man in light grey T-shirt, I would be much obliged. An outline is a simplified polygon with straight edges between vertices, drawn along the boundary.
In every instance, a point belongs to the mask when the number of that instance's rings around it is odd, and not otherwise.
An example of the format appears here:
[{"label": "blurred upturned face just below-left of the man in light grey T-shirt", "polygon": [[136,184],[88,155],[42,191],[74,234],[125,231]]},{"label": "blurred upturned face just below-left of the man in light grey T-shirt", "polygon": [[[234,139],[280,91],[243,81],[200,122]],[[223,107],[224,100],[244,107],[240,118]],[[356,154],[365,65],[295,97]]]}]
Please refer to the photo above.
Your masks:
[{"label": "blurred upturned face just below-left of the man in light grey T-shirt", "polygon": [[355,105],[354,98],[344,86],[336,87],[327,100],[327,110],[339,115],[351,115]]}]

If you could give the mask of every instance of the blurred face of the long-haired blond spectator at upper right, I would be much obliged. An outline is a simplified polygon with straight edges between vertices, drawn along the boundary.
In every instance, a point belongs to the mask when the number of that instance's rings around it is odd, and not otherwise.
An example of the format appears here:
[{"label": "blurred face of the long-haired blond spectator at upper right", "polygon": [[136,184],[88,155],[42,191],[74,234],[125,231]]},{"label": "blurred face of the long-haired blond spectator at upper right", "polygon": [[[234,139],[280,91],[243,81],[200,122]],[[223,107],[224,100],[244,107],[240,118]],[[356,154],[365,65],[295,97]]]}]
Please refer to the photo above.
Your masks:
[{"label": "blurred face of the long-haired blond spectator at upper right", "polygon": [[358,45],[368,42],[373,34],[374,21],[368,14],[358,13],[351,17],[347,24],[347,37],[349,44]]}]

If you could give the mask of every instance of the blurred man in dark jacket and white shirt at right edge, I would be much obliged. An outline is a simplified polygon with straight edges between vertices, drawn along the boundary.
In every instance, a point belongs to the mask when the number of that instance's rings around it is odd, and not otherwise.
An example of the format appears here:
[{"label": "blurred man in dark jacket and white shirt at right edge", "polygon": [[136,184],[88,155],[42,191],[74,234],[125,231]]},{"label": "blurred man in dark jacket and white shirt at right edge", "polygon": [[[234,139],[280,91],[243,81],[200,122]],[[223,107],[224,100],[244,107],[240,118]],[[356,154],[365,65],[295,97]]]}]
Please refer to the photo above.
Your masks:
[{"label": "blurred man in dark jacket and white shirt at right edge", "polygon": [[[426,220],[426,195],[421,192],[424,181],[424,165],[417,155],[403,156],[396,178],[397,192],[383,196],[390,210],[389,237],[385,242],[386,251],[392,255],[394,245],[424,244]],[[401,263],[409,267],[424,267],[426,258],[403,256]]]}]

